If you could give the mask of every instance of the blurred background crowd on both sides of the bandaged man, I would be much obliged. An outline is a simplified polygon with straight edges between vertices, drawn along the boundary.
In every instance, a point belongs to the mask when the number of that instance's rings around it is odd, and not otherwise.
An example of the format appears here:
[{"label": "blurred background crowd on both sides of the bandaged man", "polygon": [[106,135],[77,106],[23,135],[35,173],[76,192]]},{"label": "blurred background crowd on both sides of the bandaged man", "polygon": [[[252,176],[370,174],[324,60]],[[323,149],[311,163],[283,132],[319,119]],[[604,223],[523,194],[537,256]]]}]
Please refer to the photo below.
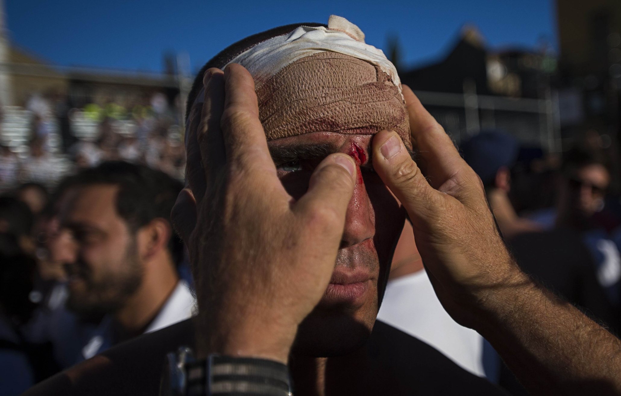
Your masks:
[{"label": "blurred background crowd on both sides of the bandaged man", "polygon": [[[187,253],[168,218],[183,187],[184,148],[166,97],[130,109],[34,97],[25,111],[27,143],[6,144],[0,155],[0,394],[7,395],[194,309]],[[621,196],[616,146],[606,139],[589,130],[563,153],[546,153],[492,130],[460,151],[522,269],[617,333]],[[400,246],[379,319],[525,395],[486,341],[432,302],[430,284],[429,295],[420,294],[420,255],[413,240]],[[396,293],[407,276],[418,282],[408,286],[418,297]],[[406,316],[417,320],[399,322]]]}]

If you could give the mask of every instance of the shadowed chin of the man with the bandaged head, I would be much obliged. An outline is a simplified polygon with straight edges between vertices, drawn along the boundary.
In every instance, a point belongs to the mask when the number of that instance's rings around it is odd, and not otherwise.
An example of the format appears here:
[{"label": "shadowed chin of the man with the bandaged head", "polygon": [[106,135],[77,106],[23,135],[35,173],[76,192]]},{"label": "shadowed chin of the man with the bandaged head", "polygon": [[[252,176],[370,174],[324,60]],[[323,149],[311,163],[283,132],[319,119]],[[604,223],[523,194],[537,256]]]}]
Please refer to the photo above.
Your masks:
[{"label": "shadowed chin of the man with the bandaged head", "polygon": [[313,358],[344,356],[360,350],[371,336],[376,319],[361,312],[317,308],[300,323],[292,354]]}]

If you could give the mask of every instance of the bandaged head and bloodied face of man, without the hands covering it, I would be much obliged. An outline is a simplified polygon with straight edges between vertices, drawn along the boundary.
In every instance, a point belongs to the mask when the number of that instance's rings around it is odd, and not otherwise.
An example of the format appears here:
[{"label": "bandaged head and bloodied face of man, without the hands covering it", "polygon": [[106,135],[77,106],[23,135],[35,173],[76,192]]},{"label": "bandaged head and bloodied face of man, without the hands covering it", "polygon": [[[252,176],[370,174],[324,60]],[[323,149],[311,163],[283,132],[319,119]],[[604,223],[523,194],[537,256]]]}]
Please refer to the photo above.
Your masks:
[{"label": "bandaged head and bloodied face of man, without the hands covering it", "polygon": [[[396,130],[409,141],[401,83],[381,50],[363,40],[360,29],[333,15],[328,29],[297,27],[226,63],[207,65],[224,69],[238,63],[252,74],[271,158],[294,199],[306,193],[313,170],[327,155],[342,152],[355,160],[356,187],[337,266],[322,302],[298,335],[297,348],[318,356],[342,354],[368,337],[404,222],[397,201],[373,173],[369,154],[379,130]],[[201,121],[201,86],[189,95],[196,99],[188,130],[196,130],[192,123]]]}]

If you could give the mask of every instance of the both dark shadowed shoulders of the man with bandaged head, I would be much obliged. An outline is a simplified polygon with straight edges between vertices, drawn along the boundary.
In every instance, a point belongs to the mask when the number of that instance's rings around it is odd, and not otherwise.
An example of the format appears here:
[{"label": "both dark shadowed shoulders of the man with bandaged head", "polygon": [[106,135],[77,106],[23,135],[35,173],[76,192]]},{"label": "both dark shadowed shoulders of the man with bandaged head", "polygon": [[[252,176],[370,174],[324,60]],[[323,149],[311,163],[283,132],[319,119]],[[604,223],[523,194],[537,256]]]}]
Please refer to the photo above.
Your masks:
[{"label": "both dark shadowed shoulders of the man with bandaged head", "polygon": [[[194,345],[191,320],[114,346],[35,385],[24,395],[155,396],[165,354],[183,345]],[[367,346],[374,367],[390,371],[399,382],[396,387],[407,395],[504,395],[496,385],[386,323],[375,323]]]}]

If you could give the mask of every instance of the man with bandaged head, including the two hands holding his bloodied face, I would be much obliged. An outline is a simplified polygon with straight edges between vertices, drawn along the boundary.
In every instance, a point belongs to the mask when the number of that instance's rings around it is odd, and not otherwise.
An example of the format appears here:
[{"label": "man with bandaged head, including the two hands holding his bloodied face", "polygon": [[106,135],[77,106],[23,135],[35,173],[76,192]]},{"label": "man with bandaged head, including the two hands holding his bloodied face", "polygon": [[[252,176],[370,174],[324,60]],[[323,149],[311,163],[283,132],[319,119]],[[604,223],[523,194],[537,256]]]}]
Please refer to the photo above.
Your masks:
[{"label": "man with bandaged head, including the two hands holding his bloodied face", "polygon": [[355,25],[333,16],[235,43],[199,73],[188,108],[188,188],[172,217],[196,320],[30,394],[498,394],[376,322],[406,212],[446,311],[529,390],[621,390],[618,340],[520,272],[479,178]]}]

